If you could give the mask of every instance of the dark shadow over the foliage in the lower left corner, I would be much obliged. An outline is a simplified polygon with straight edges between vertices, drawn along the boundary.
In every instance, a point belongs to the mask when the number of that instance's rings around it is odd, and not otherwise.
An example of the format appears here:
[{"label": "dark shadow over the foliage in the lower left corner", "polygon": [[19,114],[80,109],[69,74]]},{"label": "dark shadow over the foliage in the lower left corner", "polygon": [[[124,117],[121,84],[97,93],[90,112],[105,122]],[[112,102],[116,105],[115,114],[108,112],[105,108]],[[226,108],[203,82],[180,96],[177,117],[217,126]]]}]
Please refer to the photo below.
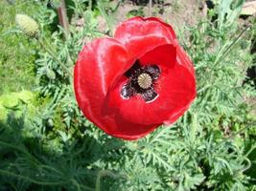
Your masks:
[{"label": "dark shadow over the foliage in the lower left corner", "polygon": [[0,122],[0,190],[94,190],[101,161],[123,162],[124,142],[104,136],[63,141],[35,133],[25,117]]}]

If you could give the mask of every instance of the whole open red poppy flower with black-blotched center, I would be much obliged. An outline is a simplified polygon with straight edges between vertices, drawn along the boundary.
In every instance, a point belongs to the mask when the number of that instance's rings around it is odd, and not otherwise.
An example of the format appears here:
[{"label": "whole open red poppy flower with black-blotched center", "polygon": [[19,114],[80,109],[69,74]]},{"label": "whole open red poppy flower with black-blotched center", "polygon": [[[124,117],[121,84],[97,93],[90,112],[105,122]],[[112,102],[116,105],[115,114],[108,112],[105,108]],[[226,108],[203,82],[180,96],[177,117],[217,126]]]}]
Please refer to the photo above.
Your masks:
[{"label": "whole open red poppy flower with black-blotched center", "polygon": [[175,122],[196,96],[191,60],[173,28],[154,17],[128,19],[113,38],[85,45],[74,84],[83,115],[124,139]]}]

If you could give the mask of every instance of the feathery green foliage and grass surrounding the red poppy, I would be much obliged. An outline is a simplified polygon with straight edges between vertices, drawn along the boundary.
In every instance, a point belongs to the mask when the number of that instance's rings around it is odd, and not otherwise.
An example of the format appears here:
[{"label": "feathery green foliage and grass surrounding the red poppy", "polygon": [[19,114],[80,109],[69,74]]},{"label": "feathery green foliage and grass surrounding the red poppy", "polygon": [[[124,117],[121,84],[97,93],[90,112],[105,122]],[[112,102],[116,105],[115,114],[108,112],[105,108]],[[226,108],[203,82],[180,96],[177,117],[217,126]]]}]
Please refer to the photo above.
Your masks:
[{"label": "feathery green foliage and grass surrounding the red poppy", "polygon": [[[69,33],[58,25],[58,0],[0,2],[0,190],[256,189],[256,91],[246,75],[256,24],[238,19],[243,0],[212,1],[204,17],[176,23],[198,97],[175,124],[124,141],[81,115],[68,71],[83,44],[111,34],[128,2],[66,1]],[[133,1],[126,17],[147,15],[147,3]],[[164,3],[154,1],[152,14],[182,9]],[[19,31],[16,13],[36,20],[50,52]]]}]

